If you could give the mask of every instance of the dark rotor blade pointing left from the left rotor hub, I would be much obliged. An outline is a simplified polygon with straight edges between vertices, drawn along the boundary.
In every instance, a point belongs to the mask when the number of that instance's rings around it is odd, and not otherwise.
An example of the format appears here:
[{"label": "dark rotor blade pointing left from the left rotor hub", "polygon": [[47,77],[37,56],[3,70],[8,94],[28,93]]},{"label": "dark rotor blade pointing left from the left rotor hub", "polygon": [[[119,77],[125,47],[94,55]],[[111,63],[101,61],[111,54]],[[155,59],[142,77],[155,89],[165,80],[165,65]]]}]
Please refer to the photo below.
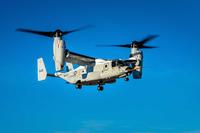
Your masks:
[{"label": "dark rotor blade pointing left from the left rotor hub", "polygon": [[27,32],[27,33],[37,34],[37,35],[42,35],[42,36],[47,36],[47,37],[53,37],[54,35],[53,32],[37,31],[37,30],[30,30],[30,29],[23,29],[23,28],[19,28],[16,31]]}]

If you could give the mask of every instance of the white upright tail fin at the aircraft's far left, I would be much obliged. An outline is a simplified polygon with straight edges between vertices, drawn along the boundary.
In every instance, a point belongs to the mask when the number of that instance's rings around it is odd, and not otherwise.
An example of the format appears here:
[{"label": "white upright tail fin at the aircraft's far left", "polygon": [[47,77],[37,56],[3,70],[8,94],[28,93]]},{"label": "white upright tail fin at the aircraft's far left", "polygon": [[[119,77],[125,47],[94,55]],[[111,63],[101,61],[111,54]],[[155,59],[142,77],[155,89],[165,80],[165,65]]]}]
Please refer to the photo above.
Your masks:
[{"label": "white upright tail fin at the aircraft's far left", "polygon": [[42,58],[37,59],[38,69],[38,81],[45,80],[47,77],[47,71]]}]

